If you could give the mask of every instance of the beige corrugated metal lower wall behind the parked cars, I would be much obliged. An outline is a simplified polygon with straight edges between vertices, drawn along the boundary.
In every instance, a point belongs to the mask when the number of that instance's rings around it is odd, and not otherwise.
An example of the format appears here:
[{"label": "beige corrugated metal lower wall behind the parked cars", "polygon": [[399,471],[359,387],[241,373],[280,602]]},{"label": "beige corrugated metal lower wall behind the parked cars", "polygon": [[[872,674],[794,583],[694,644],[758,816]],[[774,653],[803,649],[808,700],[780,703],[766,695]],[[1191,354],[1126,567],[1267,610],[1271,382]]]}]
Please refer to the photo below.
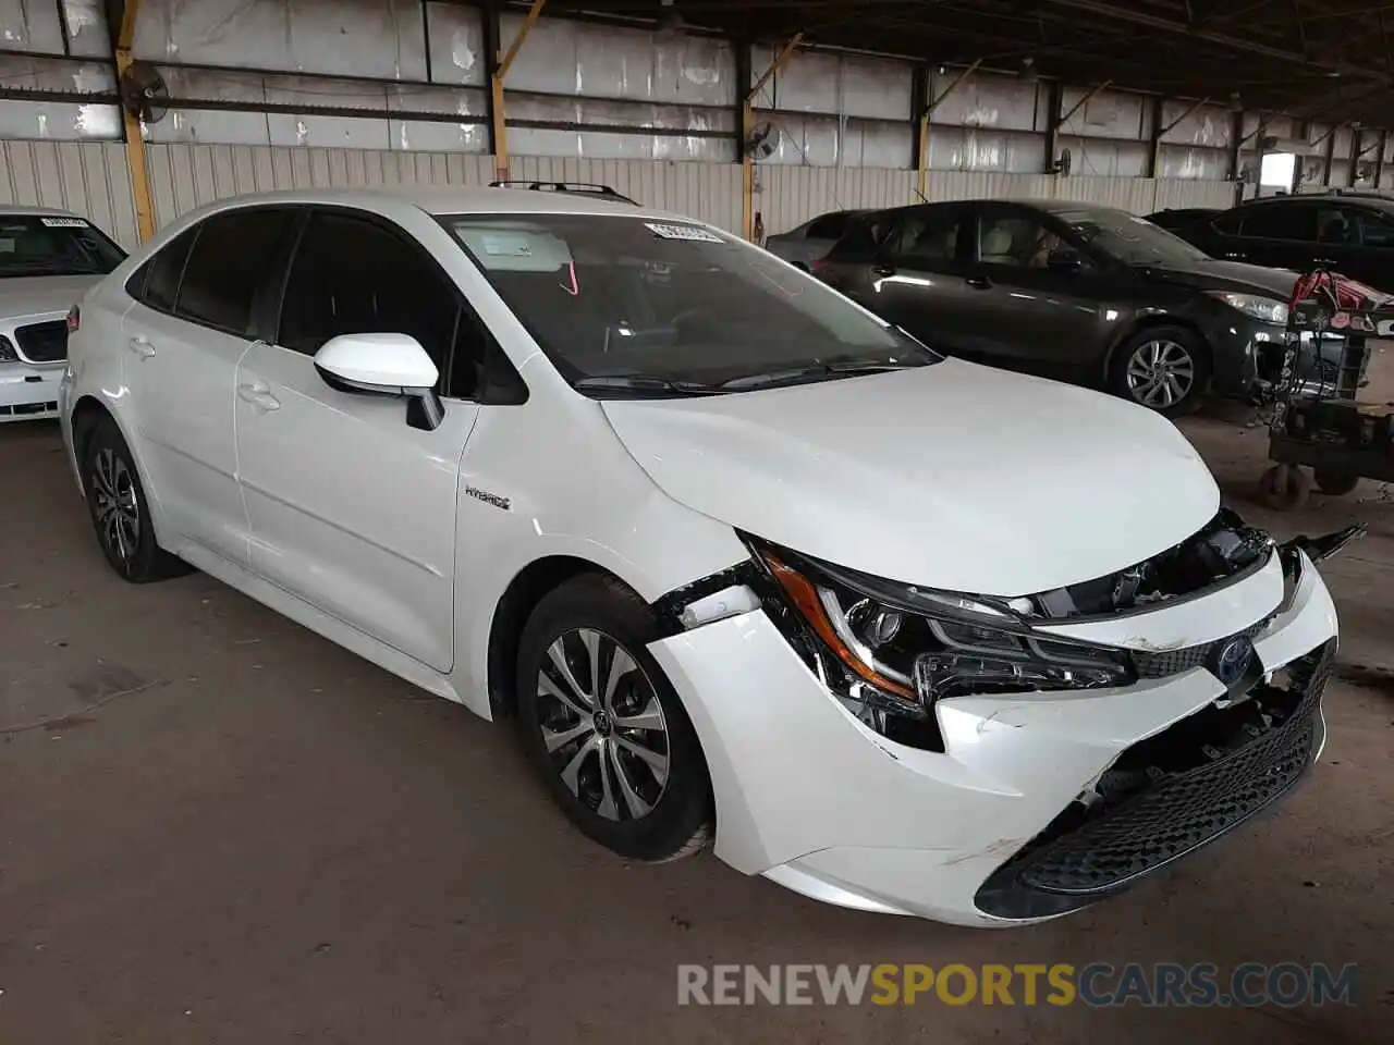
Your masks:
[{"label": "beige corrugated metal lower wall behind the parked cars", "polygon": [[[85,215],[125,247],[137,245],[125,148],[113,142],[0,141],[0,202],[40,203]],[[268,145],[146,145],[155,219],[164,224],[195,206],[243,192],[376,185],[482,185],[493,157]],[[740,231],[742,171],[735,163],[583,160],[514,156],[512,177],[594,181],[657,206]],[[756,167],[756,210],[769,234],[827,210],[903,206],[917,199],[913,170]],[[937,199],[1055,198],[1118,206],[1138,215],[1170,206],[1225,208],[1228,181],[1068,177],[994,171],[928,171]]]}]

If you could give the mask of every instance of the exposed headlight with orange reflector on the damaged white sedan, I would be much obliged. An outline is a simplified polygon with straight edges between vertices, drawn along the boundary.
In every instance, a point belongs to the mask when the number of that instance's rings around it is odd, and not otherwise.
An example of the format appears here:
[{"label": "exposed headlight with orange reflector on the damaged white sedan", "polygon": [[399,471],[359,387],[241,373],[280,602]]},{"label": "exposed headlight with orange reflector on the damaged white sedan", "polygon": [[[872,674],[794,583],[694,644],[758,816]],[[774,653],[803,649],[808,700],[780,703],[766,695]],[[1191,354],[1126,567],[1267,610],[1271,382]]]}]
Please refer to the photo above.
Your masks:
[{"label": "exposed headlight with orange reflector on the damaged white sedan", "polygon": [[969,694],[1129,686],[1126,651],[1033,631],[1029,605],[885,581],[749,539],[767,601],[821,680],[878,733],[942,750],[931,709]]}]

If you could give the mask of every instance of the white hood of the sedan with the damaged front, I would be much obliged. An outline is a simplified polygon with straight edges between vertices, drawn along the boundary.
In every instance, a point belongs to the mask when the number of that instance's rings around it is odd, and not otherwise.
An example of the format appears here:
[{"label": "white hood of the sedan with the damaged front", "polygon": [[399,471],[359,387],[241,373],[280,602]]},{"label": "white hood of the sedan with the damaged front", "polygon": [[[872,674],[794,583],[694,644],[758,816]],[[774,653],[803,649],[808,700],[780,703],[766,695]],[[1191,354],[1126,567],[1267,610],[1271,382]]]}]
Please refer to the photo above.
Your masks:
[{"label": "white hood of the sedan with the damaged front", "polygon": [[687,507],[926,587],[1015,596],[1093,580],[1184,541],[1220,506],[1165,418],[959,359],[602,408]]}]

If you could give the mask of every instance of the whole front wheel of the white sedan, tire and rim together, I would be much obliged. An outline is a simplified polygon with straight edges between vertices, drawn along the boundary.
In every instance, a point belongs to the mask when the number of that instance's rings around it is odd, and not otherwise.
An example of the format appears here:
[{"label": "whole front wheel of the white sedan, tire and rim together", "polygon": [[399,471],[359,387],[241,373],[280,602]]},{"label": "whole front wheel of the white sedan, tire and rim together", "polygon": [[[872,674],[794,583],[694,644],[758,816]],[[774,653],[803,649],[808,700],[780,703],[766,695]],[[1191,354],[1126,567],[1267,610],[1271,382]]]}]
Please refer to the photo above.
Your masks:
[{"label": "whole front wheel of the white sedan, tire and rim together", "polygon": [[711,837],[697,733],[658,662],[648,607],[585,574],[542,598],[519,648],[519,727],[552,797],[622,857],[661,862]]}]

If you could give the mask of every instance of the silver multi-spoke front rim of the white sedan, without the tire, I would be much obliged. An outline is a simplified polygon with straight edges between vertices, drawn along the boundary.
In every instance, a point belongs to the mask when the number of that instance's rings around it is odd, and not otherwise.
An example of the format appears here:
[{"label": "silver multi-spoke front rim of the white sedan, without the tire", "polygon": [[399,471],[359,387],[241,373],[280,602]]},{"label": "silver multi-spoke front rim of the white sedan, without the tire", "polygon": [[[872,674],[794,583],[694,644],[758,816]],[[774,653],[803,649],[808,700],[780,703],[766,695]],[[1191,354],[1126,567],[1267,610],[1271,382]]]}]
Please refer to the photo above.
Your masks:
[{"label": "silver multi-spoke front rim of the white sedan, without the tire", "polygon": [[668,787],[668,722],[652,681],[615,638],[562,633],[537,674],[542,744],[562,783],[611,821],[647,816]]}]

